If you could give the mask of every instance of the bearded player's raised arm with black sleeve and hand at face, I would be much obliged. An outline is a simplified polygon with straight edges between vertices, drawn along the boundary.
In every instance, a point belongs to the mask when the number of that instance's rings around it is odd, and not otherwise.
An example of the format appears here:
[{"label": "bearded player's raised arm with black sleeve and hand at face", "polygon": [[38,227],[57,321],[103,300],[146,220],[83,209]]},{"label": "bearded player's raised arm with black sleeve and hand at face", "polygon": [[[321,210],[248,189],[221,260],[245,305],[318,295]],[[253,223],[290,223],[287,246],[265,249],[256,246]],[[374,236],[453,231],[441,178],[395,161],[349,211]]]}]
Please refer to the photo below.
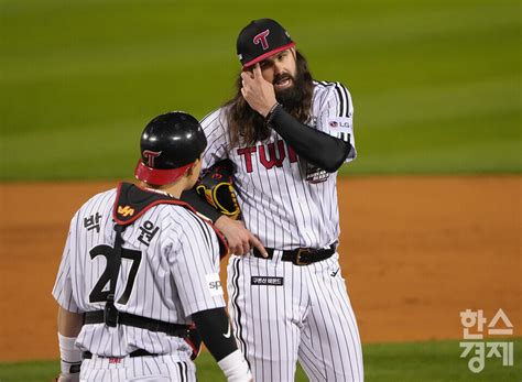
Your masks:
[{"label": "bearded player's raised arm with black sleeve and hand at face", "polygon": [[275,101],[272,84],[267,81],[259,64],[252,73],[242,73],[242,95],[252,109],[292,146],[301,157],[329,173],[336,172],[351,151],[350,142],[314,129],[286,112]]}]

